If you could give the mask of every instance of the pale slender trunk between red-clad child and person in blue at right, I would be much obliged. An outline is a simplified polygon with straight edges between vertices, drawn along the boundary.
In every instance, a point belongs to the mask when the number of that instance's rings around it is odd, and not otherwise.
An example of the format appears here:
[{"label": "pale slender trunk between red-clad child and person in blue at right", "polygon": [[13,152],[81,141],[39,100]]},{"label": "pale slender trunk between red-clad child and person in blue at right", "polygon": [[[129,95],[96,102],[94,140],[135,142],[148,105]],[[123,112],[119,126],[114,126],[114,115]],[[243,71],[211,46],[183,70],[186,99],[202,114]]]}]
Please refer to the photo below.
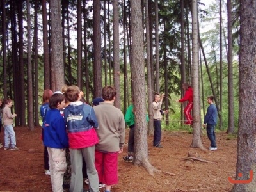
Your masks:
[{"label": "pale slender trunk between red-clad child and person in blue at right", "polygon": [[193,140],[191,147],[204,149],[200,127],[200,97],[198,77],[198,15],[197,0],[192,1],[192,56],[193,56]]}]

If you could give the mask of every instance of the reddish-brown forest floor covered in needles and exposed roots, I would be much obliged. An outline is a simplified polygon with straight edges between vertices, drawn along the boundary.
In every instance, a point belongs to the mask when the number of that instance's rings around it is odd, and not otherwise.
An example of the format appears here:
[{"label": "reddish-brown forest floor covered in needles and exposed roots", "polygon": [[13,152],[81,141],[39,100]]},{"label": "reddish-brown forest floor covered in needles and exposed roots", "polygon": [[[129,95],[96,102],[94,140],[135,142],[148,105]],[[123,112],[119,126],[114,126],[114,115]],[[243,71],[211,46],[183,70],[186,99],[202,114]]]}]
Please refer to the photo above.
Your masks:
[{"label": "reddish-brown forest floor covered in needles and exposed roots", "polygon": [[[15,127],[15,133],[20,150],[0,149],[0,191],[51,191],[51,179],[44,174],[41,128],[28,131],[28,127]],[[148,175],[145,168],[126,163],[122,159],[127,154],[126,142],[124,152],[118,157],[119,183],[111,191],[231,191],[232,184],[228,182],[228,177],[234,179],[236,173],[236,138],[228,138],[224,132],[218,132],[218,150],[204,152],[190,147],[192,136],[188,131],[163,131],[164,148],[152,147],[153,137],[148,136],[150,163],[159,170],[174,173],[173,176],[166,173]],[[3,138],[2,129],[0,142],[3,142]],[[205,130],[202,143],[205,148],[209,148]],[[31,148],[35,152],[28,152]],[[182,160],[188,156],[188,152],[197,153],[201,159],[215,163]],[[84,188],[88,186],[84,184]]]}]

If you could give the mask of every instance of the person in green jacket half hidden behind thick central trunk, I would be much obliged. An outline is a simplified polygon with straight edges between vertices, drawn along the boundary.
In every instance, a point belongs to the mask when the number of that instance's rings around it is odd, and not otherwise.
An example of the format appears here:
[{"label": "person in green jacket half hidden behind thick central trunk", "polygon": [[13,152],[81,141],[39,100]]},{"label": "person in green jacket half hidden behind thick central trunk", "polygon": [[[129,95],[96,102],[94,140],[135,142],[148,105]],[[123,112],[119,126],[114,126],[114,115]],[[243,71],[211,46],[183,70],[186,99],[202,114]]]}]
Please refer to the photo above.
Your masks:
[{"label": "person in green jacket half hidden behind thick central trunk", "polygon": [[[132,99],[132,104],[127,108],[124,120],[127,126],[129,126],[129,138],[128,138],[128,154],[127,156],[123,157],[124,161],[128,163],[132,163],[133,155],[134,155],[134,127],[135,127],[135,118],[134,118],[134,99]],[[146,120],[148,122],[149,118],[146,115]]]}]

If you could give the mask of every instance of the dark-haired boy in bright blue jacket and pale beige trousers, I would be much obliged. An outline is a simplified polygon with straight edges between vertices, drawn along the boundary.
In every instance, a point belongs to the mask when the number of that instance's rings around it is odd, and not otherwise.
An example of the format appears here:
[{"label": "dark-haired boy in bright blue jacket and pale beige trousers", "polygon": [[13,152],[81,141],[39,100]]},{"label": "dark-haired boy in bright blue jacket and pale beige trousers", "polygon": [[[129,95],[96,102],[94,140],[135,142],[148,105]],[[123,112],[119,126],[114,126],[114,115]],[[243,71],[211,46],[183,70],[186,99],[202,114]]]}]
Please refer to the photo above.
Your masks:
[{"label": "dark-haired boy in bright blue jacket and pale beige trousers", "polygon": [[65,106],[65,96],[56,93],[49,100],[44,122],[44,145],[49,154],[52,191],[63,191],[63,175],[67,168],[65,148],[68,147],[66,124],[60,109]]}]

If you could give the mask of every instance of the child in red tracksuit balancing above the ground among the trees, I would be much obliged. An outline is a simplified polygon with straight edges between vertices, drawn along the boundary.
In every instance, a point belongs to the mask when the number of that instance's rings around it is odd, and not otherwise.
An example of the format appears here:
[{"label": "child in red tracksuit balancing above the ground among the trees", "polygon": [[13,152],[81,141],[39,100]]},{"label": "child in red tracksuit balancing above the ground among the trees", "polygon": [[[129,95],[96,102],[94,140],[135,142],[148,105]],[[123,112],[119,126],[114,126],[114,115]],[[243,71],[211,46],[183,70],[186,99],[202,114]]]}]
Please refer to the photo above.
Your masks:
[{"label": "child in red tracksuit balancing above the ground among the trees", "polygon": [[182,88],[185,90],[184,97],[180,100],[177,100],[176,102],[185,102],[188,101],[188,105],[184,109],[184,114],[186,116],[187,121],[185,122],[186,125],[192,124],[192,116],[190,114],[192,108],[193,108],[193,89],[188,83],[183,83]]}]

